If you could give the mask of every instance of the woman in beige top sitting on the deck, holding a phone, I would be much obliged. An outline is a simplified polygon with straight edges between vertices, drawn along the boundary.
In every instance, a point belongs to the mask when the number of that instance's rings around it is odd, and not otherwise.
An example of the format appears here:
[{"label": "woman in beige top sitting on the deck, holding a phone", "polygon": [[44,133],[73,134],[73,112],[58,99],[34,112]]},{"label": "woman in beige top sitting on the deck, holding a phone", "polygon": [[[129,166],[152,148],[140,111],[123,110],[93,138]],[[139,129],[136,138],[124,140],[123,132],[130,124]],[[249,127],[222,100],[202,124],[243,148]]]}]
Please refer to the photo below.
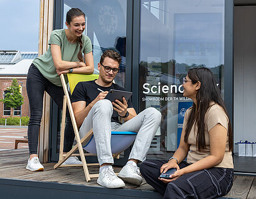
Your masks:
[{"label": "woman in beige top sitting on the deck, holding a phone", "polygon": [[[179,148],[169,160],[147,160],[140,172],[164,198],[216,198],[233,184],[233,136],[214,75],[193,68],[183,80],[184,96],[193,100],[184,118]],[[184,159],[187,157],[187,160]],[[162,172],[177,169],[169,179]]]}]

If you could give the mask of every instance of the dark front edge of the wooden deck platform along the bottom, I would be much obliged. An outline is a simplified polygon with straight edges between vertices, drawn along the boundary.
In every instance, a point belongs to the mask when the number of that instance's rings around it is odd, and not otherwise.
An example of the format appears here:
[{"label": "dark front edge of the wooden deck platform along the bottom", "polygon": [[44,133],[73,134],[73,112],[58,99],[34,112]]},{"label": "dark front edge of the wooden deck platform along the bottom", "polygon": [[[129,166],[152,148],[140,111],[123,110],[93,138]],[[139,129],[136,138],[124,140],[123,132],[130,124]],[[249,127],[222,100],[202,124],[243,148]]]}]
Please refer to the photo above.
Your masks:
[{"label": "dark front edge of the wooden deck platform along the bottom", "polygon": [[105,188],[76,185],[57,182],[37,182],[30,180],[17,180],[0,178],[1,199],[27,198],[27,194],[36,195],[37,199],[45,198],[135,198],[135,199],[160,199],[162,196],[150,190],[132,190],[127,188]]}]

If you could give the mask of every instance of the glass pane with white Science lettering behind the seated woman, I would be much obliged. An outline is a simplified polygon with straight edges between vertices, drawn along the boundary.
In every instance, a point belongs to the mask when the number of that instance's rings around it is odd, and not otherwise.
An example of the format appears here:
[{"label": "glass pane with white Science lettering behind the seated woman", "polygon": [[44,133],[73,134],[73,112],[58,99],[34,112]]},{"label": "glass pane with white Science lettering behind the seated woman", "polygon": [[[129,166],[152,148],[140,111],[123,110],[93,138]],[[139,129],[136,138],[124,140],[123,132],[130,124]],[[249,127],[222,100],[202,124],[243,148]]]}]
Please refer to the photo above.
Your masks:
[{"label": "glass pane with white Science lettering behind the seated woman", "polygon": [[224,6],[224,0],[140,1],[139,111],[152,106],[162,113],[148,157],[166,158],[179,146],[192,106],[182,96],[189,68],[210,68],[224,96]]}]

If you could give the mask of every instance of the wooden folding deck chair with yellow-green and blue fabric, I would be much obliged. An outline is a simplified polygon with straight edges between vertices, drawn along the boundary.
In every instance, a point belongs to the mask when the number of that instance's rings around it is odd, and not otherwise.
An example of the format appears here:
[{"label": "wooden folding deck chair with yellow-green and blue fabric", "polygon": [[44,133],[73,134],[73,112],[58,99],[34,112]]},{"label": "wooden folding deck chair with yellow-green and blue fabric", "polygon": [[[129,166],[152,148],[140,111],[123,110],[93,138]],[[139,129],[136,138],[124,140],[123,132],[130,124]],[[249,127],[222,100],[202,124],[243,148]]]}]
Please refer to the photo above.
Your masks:
[{"label": "wooden folding deck chair with yellow-green and blue fabric", "polygon": [[[67,77],[69,79],[69,87],[71,90],[71,93],[74,91],[74,88],[76,87],[77,83],[79,81],[91,81],[98,78],[99,75],[84,75],[84,74],[74,74],[74,73],[68,73]],[[77,129],[76,119],[74,116],[74,112],[71,106],[71,100],[69,98],[69,92],[67,90],[66,81],[64,79],[64,75],[61,74],[61,83],[64,89],[64,99],[63,99],[63,108],[62,108],[62,121],[61,121],[61,140],[60,140],[60,149],[59,149],[59,162],[54,165],[54,169],[57,169],[58,167],[77,167],[79,165],[62,165],[69,157],[71,156],[80,156],[82,161],[82,166],[84,169],[84,175],[86,177],[86,182],[89,182],[91,178],[97,178],[99,177],[99,174],[89,174],[89,170],[87,166],[90,165],[99,165],[99,163],[93,163],[93,164],[87,164],[85,156],[91,156],[96,155],[96,146],[93,136],[92,129],[87,132],[87,134],[82,137],[82,139],[79,136],[79,132]],[[65,129],[65,121],[66,121],[66,108],[69,109],[69,114],[71,116],[72,126],[74,128],[74,133],[76,137],[77,144],[76,146],[72,147],[72,149],[67,153],[63,154],[63,145],[64,145],[64,129]],[[114,154],[113,157],[117,157],[122,151],[127,149],[132,142],[135,140],[135,136],[137,135],[137,132],[117,132],[112,131],[111,132],[111,149],[112,153]],[[117,139],[112,139],[112,137],[116,137]],[[122,142],[121,142],[122,141]],[[84,149],[87,150],[88,153],[84,153],[82,143],[87,142],[86,146],[84,146]],[[120,147],[121,146],[121,147]],[[76,150],[79,150],[79,154],[74,154]]]}]

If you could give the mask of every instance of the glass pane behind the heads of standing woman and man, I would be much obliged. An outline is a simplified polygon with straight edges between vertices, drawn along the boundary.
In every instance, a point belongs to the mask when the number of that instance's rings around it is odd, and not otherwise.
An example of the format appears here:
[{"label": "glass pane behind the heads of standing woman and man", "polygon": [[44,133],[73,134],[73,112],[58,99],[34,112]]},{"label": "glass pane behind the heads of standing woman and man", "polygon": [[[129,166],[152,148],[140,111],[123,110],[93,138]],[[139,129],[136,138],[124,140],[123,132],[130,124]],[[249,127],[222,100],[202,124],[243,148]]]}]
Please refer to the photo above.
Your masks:
[{"label": "glass pane behind the heads of standing woman and man", "polygon": [[63,27],[67,28],[66,13],[71,7],[78,7],[86,14],[86,34],[92,42],[94,73],[98,74],[97,64],[102,52],[107,49],[121,54],[120,72],[115,81],[124,87],[126,72],[126,0],[64,0]]}]

